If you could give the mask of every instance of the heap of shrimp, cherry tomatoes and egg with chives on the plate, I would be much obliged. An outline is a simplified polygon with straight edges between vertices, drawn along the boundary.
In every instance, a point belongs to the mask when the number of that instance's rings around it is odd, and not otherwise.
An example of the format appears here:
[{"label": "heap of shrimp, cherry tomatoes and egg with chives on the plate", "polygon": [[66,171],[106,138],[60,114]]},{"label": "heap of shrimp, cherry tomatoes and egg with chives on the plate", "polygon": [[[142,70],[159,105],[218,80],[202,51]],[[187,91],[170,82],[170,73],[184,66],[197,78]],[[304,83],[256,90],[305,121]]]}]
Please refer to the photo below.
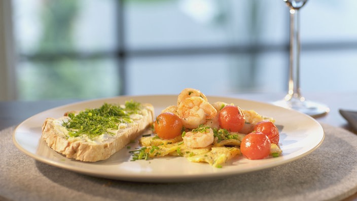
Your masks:
[{"label": "heap of shrimp, cherry tomatoes and egg with chives on the plate", "polygon": [[133,160],[181,156],[221,168],[239,155],[255,160],[282,153],[273,118],[234,104],[209,103],[193,88],[182,90],[176,105],[161,111],[153,131],[139,139],[141,147],[130,151]]}]

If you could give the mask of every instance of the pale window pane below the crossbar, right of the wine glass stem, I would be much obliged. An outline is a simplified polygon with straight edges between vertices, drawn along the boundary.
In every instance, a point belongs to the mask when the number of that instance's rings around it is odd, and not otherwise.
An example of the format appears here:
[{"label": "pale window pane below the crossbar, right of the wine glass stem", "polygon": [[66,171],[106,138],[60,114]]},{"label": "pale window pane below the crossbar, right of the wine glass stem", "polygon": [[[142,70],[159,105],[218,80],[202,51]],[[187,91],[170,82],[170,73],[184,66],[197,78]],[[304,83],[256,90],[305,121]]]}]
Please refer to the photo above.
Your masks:
[{"label": "pale window pane below the crossbar, right of the wine glass stem", "polygon": [[357,91],[356,55],[357,49],[303,53],[301,55],[302,92]]}]

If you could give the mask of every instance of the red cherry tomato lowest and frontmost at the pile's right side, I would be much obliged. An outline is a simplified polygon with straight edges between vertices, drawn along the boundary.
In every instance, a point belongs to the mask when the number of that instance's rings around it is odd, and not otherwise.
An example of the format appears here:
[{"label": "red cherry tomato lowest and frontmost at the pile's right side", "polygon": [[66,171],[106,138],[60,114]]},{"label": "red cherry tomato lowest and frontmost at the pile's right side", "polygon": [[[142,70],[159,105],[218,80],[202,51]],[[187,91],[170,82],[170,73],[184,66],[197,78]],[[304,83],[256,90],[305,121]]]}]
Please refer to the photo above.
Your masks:
[{"label": "red cherry tomato lowest and frontmost at the pile's right side", "polygon": [[263,159],[270,154],[270,140],[263,132],[251,132],[240,143],[240,152],[248,159]]}]

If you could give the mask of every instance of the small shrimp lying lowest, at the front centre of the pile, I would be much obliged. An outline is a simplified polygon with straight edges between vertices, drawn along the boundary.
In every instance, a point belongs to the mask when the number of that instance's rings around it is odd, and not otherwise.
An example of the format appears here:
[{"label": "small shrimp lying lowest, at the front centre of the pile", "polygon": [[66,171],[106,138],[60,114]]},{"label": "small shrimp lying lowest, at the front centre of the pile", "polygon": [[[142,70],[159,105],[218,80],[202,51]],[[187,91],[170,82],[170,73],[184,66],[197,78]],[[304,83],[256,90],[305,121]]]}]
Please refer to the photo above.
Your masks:
[{"label": "small shrimp lying lowest, at the front centre of the pile", "polygon": [[191,148],[203,148],[213,143],[215,137],[213,136],[212,128],[203,128],[204,130],[186,132],[184,144]]}]

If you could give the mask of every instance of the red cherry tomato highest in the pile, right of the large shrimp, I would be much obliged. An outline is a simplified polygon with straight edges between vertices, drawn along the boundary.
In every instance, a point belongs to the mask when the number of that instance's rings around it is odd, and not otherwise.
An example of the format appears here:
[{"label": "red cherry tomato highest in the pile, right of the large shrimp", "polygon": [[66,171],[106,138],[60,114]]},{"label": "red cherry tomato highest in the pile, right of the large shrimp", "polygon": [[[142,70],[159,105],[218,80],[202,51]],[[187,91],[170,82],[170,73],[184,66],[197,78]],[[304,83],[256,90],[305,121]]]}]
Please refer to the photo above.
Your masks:
[{"label": "red cherry tomato highest in the pile, right of the large shrimp", "polygon": [[218,121],[221,128],[238,132],[245,123],[245,116],[238,106],[225,106],[219,113]]}]

